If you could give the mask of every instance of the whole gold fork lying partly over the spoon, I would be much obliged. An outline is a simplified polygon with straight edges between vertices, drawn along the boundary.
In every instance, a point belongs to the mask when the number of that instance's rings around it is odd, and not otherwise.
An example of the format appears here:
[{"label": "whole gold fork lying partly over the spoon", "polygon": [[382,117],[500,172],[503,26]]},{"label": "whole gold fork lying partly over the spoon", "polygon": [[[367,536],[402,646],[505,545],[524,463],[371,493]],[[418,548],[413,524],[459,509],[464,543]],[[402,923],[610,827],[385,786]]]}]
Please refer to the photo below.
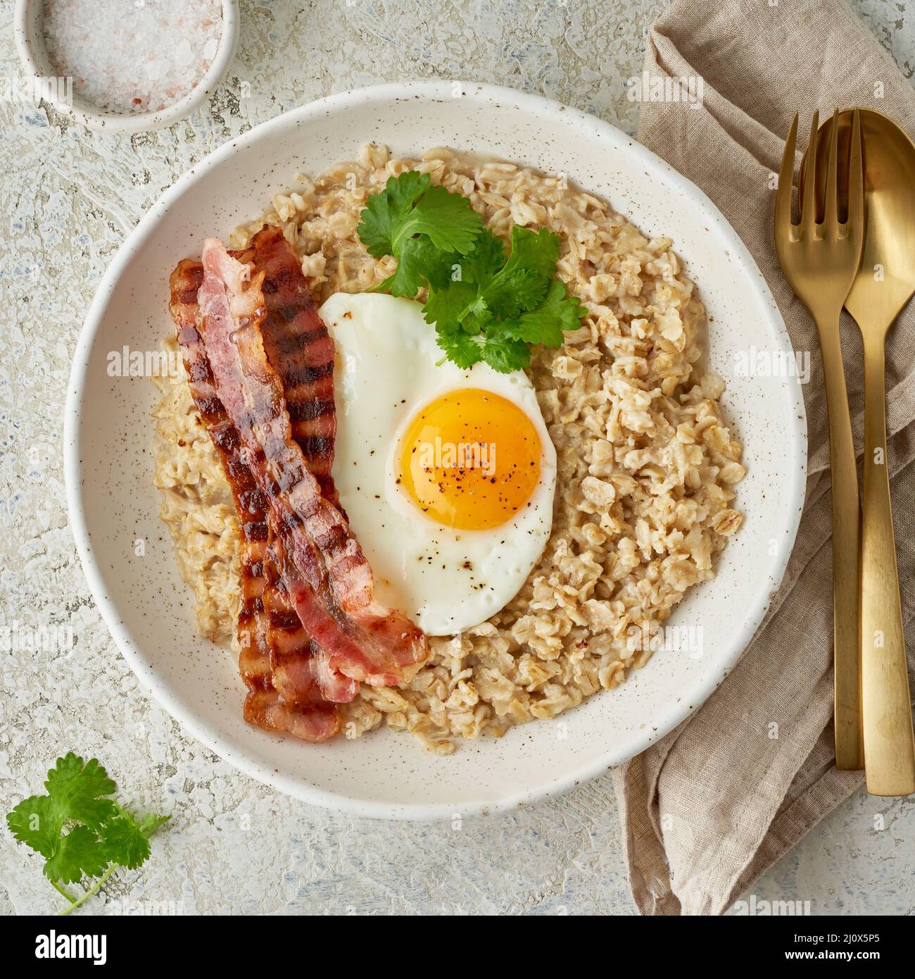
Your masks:
[{"label": "whole gold fork lying partly over the spoon", "polygon": [[860,503],[848,414],[846,375],[842,364],[839,317],[854,282],[864,240],[864,178],[861,122],[857,110],[851,128],[848,160],[846,220],[840,220],[838,180],[838,112],[830,123],[829,161],[823,220],[817,221],[816,133],[819,113],[813,114],[807,148],[807,175],[801,222],[792,220],[792,183],[798,117],[791,123],[782,157],[775,199],[775,250],[791,284],[816,323],[826,378],[829,448],[833,497],[833,660],[835,673],[836,767],[864,768],[861,734],[861,659],[858,626],[858,544]]}]

